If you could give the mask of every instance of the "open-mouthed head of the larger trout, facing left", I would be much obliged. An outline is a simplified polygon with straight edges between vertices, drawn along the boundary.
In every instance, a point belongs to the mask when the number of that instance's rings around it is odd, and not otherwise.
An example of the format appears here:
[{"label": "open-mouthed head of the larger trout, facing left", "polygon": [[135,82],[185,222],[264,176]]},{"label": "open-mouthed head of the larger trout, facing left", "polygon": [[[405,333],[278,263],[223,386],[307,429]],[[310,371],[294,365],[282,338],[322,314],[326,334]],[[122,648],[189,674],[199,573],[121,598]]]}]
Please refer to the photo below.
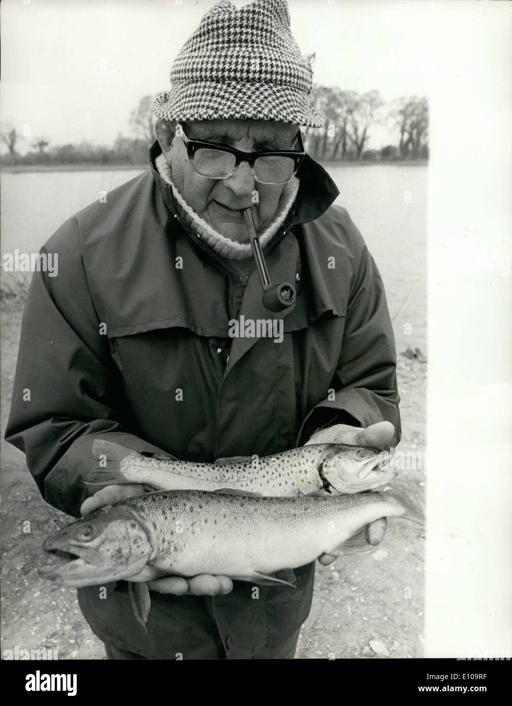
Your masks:
[{"label": "open-mouthed head of the larger trout, facing left", "polygon": [[100,508],[44,540],[44,551],[62,561],[40,573],[76,588],[129,578],[153,558],[151,534],[135,508]]}]

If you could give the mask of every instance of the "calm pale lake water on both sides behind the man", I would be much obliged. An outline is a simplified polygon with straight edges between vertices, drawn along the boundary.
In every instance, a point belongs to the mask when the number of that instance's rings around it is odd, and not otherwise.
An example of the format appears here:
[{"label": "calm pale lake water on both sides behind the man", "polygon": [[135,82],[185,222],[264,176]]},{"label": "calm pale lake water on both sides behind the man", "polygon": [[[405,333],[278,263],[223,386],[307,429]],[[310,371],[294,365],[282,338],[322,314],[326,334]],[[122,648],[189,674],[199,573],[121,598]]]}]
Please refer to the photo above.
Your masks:
[{"label": "calm pale lake water on both sides behind the man", "polygon": [[[345,206],[381,271],[399,350],[427,347],[427,167],[327,164]],[[37,252],[64,220],[100,191],[140,170],[0,175],[1,254]],[[412,326],[405,335],[407,324]]]}]

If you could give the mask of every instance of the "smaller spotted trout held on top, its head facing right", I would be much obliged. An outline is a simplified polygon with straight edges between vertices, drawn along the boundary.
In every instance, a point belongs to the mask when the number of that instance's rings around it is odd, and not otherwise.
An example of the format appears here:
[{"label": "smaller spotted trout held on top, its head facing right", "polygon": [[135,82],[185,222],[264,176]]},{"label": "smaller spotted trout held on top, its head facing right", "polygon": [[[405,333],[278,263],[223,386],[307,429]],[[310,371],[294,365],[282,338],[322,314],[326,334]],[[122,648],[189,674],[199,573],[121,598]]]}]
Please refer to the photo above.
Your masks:
[{"label": "smaller spotted trout held on top, its head facing right", "polygon": [[112,441],[93,442],[91,486],[138,483],[155,490],[230,489],[246,495],[291,498],[326,490],[376,490],[397,472],[382,469],[390,455],[377,448],[311,444],[272,456],[235,457],[231,462],[199,463],[164,455],[145,456]]}]

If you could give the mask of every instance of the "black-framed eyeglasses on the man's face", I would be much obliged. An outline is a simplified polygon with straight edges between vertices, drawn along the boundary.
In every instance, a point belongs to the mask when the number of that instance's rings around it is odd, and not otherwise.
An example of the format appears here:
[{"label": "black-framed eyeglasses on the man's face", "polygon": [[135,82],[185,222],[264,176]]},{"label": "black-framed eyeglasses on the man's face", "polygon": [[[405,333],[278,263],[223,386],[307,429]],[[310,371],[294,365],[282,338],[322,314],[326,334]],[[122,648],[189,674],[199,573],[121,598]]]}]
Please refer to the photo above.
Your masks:
[{"label": "black-framed eyeglasses on the man's face", "polygon": [[186,154],[196,172],[210,179],[227,179],[234,174],[240,162],[248,162],[254,180],[259,181],[260,184],[286,184],[294,174],[297,174],[306,155],[300,130],[297,134],[300,151],[242,152],[227,145],[190,140],[179,123],[177,123],[176,134],[184,141]]}]

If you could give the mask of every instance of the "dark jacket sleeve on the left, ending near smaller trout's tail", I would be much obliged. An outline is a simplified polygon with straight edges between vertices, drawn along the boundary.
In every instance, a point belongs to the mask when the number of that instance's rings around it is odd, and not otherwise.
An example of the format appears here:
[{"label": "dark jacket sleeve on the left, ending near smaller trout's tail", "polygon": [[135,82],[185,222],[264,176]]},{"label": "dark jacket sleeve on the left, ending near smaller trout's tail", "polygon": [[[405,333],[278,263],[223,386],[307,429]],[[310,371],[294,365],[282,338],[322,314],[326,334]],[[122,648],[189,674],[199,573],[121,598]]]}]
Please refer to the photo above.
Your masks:
[{"label": "dark jacket sleeve on the left, ending near smaller trout's tail", "polygon": [[95,437],[159,449],[123,424],[119,373],[90,297],[76,219],[42,252],[56,255],[58,267],[54,277],[32,276],[6,440],[25,453],[44,499],[78,517]]}]

